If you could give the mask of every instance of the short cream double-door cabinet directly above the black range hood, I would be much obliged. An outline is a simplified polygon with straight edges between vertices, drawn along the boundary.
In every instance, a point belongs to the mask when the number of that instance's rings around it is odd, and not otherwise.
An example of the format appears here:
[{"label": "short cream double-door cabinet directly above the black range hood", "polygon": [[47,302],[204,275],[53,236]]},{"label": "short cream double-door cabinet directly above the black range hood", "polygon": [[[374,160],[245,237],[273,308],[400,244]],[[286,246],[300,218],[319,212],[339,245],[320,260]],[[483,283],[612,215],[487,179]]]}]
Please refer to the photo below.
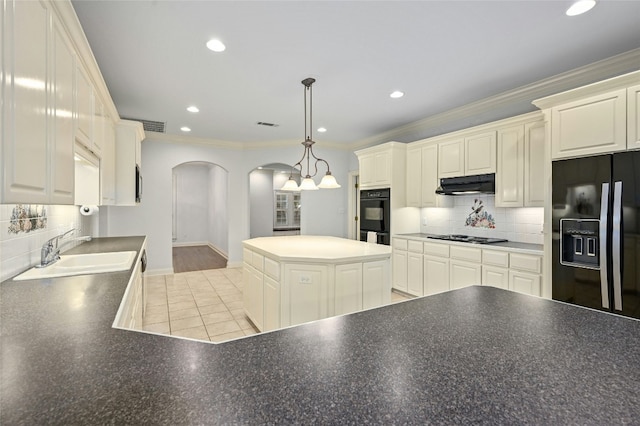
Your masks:
[{"label": "short cream double-door cabinet directly above the black range hood", "polygon": [[496,132],[484,132],[439,143],[441,178],[496,172]]}]

